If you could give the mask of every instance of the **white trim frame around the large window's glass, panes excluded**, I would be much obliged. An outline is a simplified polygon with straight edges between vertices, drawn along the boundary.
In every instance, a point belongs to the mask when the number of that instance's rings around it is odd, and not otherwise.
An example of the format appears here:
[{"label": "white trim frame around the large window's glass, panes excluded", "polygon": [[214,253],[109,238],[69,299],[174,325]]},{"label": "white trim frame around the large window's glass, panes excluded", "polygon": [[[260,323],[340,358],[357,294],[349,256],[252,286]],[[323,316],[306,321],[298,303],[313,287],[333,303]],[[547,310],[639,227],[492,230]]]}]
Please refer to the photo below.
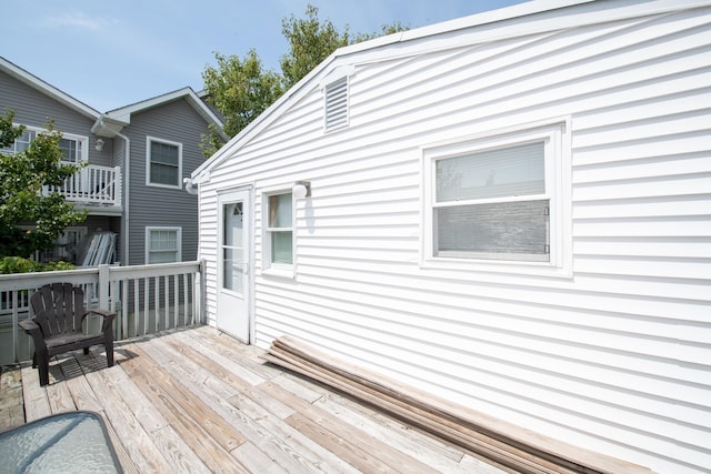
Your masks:
[{"label": "white trim frame around the large window's glass, panes excluded", "polygon": [[[421,147],[420,266],[423,269],[572,276],[570,130],[569,118],[555,119]],[[534,140],[547,141],[544,165],[545,194],[550,199],[550,260],[535,262],[435,256],[432,211],[435,200],[435,161],[493,148],[513,147]]]}]

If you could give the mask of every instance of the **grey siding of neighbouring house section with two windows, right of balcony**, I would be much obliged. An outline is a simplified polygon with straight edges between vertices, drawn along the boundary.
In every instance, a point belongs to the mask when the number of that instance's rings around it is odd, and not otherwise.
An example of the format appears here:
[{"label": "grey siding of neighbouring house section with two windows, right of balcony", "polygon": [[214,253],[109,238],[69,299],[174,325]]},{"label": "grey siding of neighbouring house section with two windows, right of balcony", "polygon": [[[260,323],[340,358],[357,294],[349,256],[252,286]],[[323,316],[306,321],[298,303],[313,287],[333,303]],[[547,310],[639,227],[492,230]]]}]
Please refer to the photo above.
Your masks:
[{"label": "grey siding of neighbouring house section with two windows, right of balcony", "polygon": [[[131,140],[131,183],[128,198],[130,262],[146,263],[146,228],[182,228],[182,260],[194,260],[198,249],[198,199],[182,188],[182,179],[204,161],[200,139],[206,121],[186,101],[177,100],[134,113],[124,132]],[[182,143],[180,189],[146,185],[147,137]],[[118,139],[117,139],[118,141]]]}]

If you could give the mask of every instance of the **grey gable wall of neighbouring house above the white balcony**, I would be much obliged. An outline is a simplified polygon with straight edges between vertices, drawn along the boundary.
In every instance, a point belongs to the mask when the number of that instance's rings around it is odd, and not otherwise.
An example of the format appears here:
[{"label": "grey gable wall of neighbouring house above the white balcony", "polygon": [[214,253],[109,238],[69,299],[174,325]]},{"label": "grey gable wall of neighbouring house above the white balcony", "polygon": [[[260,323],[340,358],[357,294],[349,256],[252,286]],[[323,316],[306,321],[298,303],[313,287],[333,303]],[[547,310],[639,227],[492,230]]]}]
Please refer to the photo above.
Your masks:
[{"label": "grey gable wall of neighbouring house above the white balcony", "polygon": [[0,109],[14,110],[14,122],[43,128],[48,120],[54,121],[54,130],[89,138],[89,162],[111,165],[111,140],[104,140],[103,151],[94,149],[97,137],[91,133],[94,119],[88,118],[50,97],[0,72]]}]

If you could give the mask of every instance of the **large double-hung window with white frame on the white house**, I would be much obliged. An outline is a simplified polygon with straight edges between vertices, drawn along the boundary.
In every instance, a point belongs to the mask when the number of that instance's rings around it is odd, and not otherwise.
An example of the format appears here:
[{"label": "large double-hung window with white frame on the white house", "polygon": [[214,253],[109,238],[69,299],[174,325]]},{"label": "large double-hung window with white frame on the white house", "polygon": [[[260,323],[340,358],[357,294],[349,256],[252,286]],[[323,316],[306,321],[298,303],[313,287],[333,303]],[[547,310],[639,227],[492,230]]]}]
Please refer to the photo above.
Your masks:
[{"label": "large double-hung window with white frame on the white house", "polygon": [[425,149],[425,260],[560,266],[562,130]]}]

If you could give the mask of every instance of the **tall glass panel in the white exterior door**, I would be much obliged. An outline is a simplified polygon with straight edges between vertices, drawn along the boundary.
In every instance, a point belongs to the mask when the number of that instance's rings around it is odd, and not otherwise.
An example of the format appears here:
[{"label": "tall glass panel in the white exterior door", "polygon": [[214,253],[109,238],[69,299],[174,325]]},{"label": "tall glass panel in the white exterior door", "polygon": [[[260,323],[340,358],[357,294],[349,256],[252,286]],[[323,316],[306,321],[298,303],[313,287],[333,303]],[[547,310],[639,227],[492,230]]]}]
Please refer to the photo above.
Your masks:
[{"label": "tall glass panel in the white exterior door", "polygon": [[243,293],[244,245],[242,202],[222,206],[222,288]]}]

